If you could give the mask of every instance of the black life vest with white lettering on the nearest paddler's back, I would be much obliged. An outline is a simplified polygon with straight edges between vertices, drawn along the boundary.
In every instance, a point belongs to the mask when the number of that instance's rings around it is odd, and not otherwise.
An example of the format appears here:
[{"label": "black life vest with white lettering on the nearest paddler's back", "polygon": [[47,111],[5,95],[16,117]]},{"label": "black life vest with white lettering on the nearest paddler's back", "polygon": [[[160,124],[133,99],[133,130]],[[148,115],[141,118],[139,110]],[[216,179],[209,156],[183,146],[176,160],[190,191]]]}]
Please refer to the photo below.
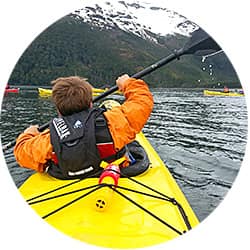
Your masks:
[{"label": "black life vest with white lettering on the nearest paddler's back", "polygon": [[57,160],[48,163],[50,175],[58,179],[96,177],[103,170],[102,160],[113,161],[125,153],[125,148],[116,152],[104,111],[92,108],[51,121],[50,139]]}]

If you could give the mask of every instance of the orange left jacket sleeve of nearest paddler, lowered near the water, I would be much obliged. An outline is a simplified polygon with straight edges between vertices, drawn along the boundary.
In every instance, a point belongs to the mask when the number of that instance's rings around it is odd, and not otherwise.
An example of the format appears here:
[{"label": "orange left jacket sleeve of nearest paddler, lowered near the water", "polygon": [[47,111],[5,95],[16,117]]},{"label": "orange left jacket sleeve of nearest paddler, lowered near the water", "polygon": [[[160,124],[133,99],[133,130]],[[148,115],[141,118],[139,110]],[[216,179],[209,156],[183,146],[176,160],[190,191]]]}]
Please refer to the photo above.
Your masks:
[{"label": "orange left jacket sleeve of nearest paddler, lowered near the water", "polygon": [[45,163],[52,157],[49,130],[36,135],[20,134],[16,140],[14,155],[21,167],[44,172]]}]

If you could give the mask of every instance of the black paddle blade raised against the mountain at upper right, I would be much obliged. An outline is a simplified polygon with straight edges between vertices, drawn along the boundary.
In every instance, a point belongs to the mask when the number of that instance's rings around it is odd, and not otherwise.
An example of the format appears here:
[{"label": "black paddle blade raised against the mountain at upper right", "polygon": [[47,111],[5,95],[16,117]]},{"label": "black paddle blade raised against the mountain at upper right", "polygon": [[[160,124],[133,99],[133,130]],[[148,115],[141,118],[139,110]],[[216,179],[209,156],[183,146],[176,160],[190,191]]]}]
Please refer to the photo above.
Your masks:
[{"label": "black paddle blade raised against the mountain at upper right", "polygon": [[184,46],[184,54],[207,55],[221,50],[215,40],[203,29],[195,30]]}]

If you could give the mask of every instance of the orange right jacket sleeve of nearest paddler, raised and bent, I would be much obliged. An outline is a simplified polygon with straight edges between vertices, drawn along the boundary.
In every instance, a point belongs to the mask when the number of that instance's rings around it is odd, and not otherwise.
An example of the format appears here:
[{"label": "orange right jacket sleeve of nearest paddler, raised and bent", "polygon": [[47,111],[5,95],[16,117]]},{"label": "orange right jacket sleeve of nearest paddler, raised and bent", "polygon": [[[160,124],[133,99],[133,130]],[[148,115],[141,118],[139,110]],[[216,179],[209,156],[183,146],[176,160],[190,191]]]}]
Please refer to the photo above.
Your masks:
[{"label": "orange right jacket sleeve of nearest paddler, raised and bent", "polygon": [[129,78],[122,91],[126,101],[104,113],[116,150],[135,139],[153,109],[153,96],[143,80]]}]

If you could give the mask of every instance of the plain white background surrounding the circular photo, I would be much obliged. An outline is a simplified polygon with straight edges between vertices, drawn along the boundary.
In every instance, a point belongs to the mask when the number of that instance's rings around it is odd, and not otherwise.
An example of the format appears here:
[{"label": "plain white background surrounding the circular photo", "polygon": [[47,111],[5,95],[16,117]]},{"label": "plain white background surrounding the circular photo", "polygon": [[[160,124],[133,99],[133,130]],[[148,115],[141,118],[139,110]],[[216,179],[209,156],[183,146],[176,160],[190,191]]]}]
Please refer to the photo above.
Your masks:
[{"label": "plain white background surrounding the circular photo", "polygon": [[[84,0],[8,0],[0,3],[0,90],[7,82],[17,59],[34,38],[60,17],[81,8]],[[94,0],[91,0],[94,1]],[[163,0],[164,1],[164,0]],[[156,2],[156,1],[154,1]],[[162,2],[162,1],[161,1]],[[221,45],[232,62],[243,88],[249,107],[250,75],[248,58],[250,38],[248,1],[228,0],[166,0],[164,3],[203,27]],[[1,95],[2,96],[2,95]],[[177,240],[147,249],[238,249],[249,246],[250,221],[248,202],[250,190],[250,149],[241,170],[224,201],[196,229]],[[0,222],[1,249],[36,250],[100,249],[84,246],[68,239],[57,230],[41,223],[37,215],[20,196],[8,173],[0,152]],[[240,209],[240,210],[239,210]],[[241,243],[241,246],[239,244]],[[101,248],[102,249],[102,248]],[[241,248],[243,249],[243,248]]]}]

